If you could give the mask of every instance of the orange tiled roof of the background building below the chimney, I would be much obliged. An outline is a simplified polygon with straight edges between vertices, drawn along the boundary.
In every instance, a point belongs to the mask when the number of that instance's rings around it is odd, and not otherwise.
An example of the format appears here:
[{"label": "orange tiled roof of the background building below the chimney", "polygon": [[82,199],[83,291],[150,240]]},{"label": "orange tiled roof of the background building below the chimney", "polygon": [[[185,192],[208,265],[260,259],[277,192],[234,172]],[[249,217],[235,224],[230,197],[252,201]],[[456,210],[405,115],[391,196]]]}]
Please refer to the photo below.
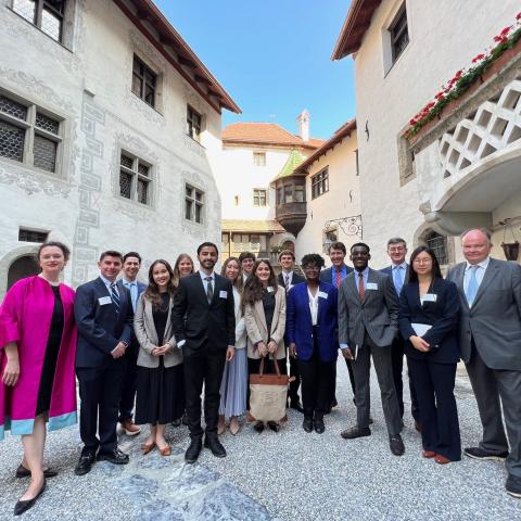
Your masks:
[{"label": "orange tiled roof of the background building below the chimney", "polygon": [[223,130],[223,143],[274,144],[279,147],[302,147],[317,149],[323,139],[309,141],[289,132],[277,123],[232,123]]}]

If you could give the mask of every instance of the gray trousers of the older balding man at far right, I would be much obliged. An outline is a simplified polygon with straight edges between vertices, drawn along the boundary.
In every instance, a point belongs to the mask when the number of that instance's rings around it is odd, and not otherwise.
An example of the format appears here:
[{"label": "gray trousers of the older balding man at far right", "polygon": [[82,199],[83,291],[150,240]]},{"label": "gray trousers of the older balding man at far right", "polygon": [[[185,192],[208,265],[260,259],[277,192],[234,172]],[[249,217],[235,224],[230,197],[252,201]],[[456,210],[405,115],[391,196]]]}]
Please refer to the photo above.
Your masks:
[{"label": "gray trousers of the older balding man at far right", "polygon": [[491,369],[485,365],[472,342],[472,354],[467,364],[467,372],[483,425],[483,440],[480,442],[480,447],[492,454],[508,452],[501,417],[503,404],[510,441],[510,454],[506,467],[510,475],[521,478],[521,371]]}]

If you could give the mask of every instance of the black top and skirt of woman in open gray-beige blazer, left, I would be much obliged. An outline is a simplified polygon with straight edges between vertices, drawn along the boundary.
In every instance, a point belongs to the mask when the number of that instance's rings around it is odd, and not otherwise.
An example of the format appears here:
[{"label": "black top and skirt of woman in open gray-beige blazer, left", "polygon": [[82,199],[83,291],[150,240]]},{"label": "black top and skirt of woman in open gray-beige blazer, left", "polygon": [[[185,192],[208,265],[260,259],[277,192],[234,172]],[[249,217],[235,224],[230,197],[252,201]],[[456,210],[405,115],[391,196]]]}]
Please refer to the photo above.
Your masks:
[{"label": "black top and skirt of woman in open gray-beige blazer, left", "polygon": [[[161,295],[161,306],[154,310],[154,327],[160,346],[165,343],[166,322],[170,306],[169,293]],[[136,395],[136,418],[138,424],[170,423],[185,412],[185,380],[182,364],[165,367],[163,356],[160,366],[138,367],[138,389]]]}]

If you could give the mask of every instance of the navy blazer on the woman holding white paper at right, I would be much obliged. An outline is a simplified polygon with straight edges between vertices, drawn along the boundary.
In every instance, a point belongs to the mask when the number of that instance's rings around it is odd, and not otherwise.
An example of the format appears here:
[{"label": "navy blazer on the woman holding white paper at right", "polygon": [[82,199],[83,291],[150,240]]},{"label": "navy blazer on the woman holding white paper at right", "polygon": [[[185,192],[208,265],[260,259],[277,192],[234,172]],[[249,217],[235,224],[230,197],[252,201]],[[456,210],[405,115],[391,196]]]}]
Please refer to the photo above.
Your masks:
[{"label": "navy blazer on the woman holding white paper at right", "polygon": [[[399,295],[399,331],[405,343],[405,354],[415,359],[429,359],[440,364],[455,364],[459,360],[458,313],[459,296],[454,282],[435,278],[429,293],[436,295],[436,302],[420,302],[418,282],[404,284]],[[432,328],[422,336],[431,351],[421,353],[409,342],[415,335],[411,323],[428,323]]]}]

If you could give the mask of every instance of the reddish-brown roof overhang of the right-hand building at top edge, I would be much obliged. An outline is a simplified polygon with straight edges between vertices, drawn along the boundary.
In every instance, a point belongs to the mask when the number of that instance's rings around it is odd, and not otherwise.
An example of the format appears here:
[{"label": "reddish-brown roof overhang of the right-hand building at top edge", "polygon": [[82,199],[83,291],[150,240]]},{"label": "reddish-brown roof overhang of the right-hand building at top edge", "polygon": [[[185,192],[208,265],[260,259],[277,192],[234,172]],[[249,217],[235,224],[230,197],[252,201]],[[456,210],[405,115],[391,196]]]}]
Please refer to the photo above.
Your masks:
[{"label": "reddish-brown roof overhang of the right-hand building at top edge", "polygon": [[353,0],[334,45],[331,60],[342,60],[356,52],[382,0]]}]

